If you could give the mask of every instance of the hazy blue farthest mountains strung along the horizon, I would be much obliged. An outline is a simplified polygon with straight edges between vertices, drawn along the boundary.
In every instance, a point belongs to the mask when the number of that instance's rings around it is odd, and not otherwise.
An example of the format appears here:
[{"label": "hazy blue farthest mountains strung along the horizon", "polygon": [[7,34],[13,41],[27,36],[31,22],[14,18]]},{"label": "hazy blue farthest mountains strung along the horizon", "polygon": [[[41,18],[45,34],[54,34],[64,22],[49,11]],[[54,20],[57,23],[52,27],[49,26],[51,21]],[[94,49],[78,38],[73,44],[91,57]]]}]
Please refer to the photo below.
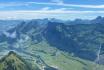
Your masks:
[{"label": "hazy blue farthest mountains strung along the horizon", "polygon": [[[59,23],[64,23],[64,24],[96,24],[96,23],[102,23],[104,22],[104,17],[98,16],[95,19],[92,20],[82,20],[82,19],[75,19],[73,21],[71,20],[61,20],[61,19],[55,19],[55,18],[45,18],[45,19],[33,19],[33,20],[38,20],[40,22],[40,24],[42,23],[46,23],[48,21],[50,22],[59,22]],[[10,28],[15,27],[17,24],[22,23],[22,22],[30,22],[31,20],[0,20],[0,31],[5,31],[8,30]]]}]

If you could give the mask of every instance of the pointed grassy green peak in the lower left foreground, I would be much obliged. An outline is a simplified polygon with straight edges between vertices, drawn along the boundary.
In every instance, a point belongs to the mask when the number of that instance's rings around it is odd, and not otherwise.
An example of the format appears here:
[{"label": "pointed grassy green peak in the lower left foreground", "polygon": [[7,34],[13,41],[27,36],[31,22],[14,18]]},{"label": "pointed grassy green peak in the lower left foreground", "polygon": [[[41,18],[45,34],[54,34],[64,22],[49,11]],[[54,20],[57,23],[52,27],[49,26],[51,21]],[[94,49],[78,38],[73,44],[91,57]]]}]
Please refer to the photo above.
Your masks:
[{"label": "pointed grassy green peak in the lower left foreground", "polygon": [[29,65],[14,51],[0,60],[0,70],[31,70]]}]

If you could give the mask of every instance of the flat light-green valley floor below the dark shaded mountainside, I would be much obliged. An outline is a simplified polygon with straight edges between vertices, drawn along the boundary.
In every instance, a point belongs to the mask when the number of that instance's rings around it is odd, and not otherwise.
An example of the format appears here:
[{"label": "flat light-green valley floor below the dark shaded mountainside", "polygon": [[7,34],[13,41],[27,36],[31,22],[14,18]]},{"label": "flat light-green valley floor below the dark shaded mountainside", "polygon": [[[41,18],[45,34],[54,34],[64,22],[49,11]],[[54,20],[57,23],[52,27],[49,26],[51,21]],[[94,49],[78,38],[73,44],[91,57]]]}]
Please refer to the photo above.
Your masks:
[{"label": "flat light-green valley floor below the dark shaded mountainside", "polygon": [[104,68],[103,65],[97,65],[93,61],[84,60],[75,57],[73,54],[52,48],[45,42],[31,45],[28,50],[31,53],[39,55],[47,65],[55,67],[58,70],[95,70],[94,68],[103,70]]}]

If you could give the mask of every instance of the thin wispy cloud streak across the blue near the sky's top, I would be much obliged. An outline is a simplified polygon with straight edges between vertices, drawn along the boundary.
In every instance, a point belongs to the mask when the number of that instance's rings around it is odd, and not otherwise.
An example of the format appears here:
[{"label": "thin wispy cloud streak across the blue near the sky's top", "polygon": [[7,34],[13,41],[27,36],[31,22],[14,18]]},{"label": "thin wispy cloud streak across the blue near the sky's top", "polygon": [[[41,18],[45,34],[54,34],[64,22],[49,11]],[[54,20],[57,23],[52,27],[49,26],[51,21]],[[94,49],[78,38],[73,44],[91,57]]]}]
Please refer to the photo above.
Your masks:
[{"label": "thin wispy cloud streak across the blue near the sky's top", "polygon": [[96,9],[103,9],[104,5],[83,5],[83,4],[66,4],[63,2],[63,0],[52,0],[51,2],[9,2],[9,3],[0,3],[0,8],[8,7],[8,6],[29,6],[29,5],[58,5],[63,7],[79,7],[79,8],[96,8]]}]

